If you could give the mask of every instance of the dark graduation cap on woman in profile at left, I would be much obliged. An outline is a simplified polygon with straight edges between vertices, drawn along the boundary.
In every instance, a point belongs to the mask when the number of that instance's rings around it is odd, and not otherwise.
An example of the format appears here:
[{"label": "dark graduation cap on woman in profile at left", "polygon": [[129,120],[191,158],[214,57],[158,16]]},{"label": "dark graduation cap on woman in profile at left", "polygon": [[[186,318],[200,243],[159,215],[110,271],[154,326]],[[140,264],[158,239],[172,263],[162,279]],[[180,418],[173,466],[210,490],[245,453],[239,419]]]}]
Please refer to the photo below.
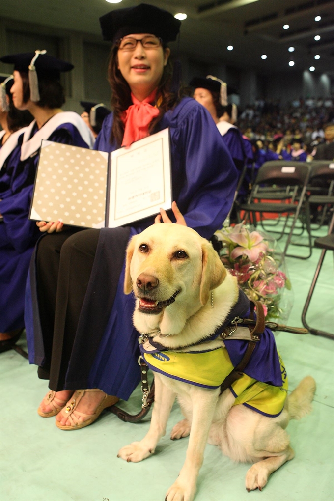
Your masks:
[{"label": "dark graduation cap on woman in profile at left", "polygon": [[[29,72],[29,66],[35,57],[34,52],[26,52],[22,54],[12,54],[0,58],[3,63],[14,64],[14,70]],[[61,72],[73,70],[74,66],[66,61],[54,58],[47,54],[40,54],[35,61],[35,67],[39,79],[55,79],[60,80]]]}]

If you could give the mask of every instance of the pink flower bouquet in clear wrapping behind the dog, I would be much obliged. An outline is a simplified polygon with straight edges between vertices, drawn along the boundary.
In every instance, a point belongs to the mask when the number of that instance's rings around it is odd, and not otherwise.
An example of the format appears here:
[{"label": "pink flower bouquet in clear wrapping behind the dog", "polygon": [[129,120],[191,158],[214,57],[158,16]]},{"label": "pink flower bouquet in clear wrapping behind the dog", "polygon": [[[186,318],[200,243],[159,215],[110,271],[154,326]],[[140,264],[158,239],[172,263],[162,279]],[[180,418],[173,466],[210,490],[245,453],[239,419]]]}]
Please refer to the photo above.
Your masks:
[{"label": "pink flower bouquet in clear wrapping behind the dog", "polygon": [[260,301],[266,320],[286,322],[292,308],[291,284],[275,240],[244,222],[215,232],[220,259],[249,299]]}]

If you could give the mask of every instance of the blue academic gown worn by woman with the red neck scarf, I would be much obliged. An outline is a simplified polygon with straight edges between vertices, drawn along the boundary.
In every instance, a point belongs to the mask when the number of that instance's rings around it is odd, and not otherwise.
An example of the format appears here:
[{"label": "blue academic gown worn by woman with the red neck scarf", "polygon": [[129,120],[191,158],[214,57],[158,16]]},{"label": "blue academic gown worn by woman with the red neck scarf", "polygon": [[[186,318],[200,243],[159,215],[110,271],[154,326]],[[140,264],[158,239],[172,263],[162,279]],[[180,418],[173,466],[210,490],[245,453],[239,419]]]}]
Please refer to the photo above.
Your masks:
[{"label": "blue academic gown worn by woman with the red neck scarf", "polygon": [[[112,123],[113,114],[110,114],[104,120],[95,149],[107,152],[116,149],[115,144],[110,144]],[[162,117],[154,132],[166,127],[170,129],[173,199],[187,225],[209,238],[221,227],[233,201],[237,171],[232,158],[210,114],[194,99],[182,99]],[[147,218],[124,231],[127,230],[131,237],[153,222],[154,217]],[[138,332],[132,324],[135,301],[132,294],[123,293],[124,260],[116,274],[117,291],[106,321],[102,322],[97,313],[99,305],[103,310],[106,296],[110,294],[112,279],[106,267],[110,262],[110,270],[114,273],[113,248],[117,245],[117,231],[121,233],[123,228],[100,230],[65,388],[100,388],[110,395],[128,399],[139,382],[140,373]],[[125,254],[125,246],[126,242],[118,252]],[[29,294],[27,299],[29,302]],[[29,312],[29,305],[27,308]],[[43,359],[43,346],[36,336],[35,332],[35,344],[30,344],[30,362],[39,364]]]}]

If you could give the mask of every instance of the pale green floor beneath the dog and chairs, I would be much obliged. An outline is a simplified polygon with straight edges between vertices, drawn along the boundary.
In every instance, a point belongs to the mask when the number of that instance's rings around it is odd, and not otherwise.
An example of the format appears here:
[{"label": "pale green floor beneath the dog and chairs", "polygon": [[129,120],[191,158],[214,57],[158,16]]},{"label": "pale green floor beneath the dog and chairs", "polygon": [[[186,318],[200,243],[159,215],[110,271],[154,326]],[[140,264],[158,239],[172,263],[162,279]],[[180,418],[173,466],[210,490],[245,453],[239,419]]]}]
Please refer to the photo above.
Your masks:
[{"label": "pale green floor beneath the dog and chairs", "polygon": [[[296,252],[305,249],[296,247]],[[320,251],[307,261],[287,259],[294,291],[289,325],[301,326],[301,311]],[[308,321],[334,332],[333,256],[327,252]],[[207,445],[198,481],[197,501],[331,501],[334,499],[334,341],[312,335],[276,335],[292,390],[311,374],[317,390],[313,411],[291,421],[288,431],[295,458],[271,477],[262,492],[244,486],[247,464],[233,463]],[[25,346],[24,340],[20,342]],[[169,432],[181,418],[174,406],[166,436],[155,455],[141,463],[118,459],[118,449],[146,433],[149,420],[128,424],[106,412],[92,426],[66,432],[37,407],[47,391],[36,367],[15,351],[0,355],[1,501],[159,501],[178,475],[188,439],[172,442]],[[138,410],[137,388],[127,408]]]}]

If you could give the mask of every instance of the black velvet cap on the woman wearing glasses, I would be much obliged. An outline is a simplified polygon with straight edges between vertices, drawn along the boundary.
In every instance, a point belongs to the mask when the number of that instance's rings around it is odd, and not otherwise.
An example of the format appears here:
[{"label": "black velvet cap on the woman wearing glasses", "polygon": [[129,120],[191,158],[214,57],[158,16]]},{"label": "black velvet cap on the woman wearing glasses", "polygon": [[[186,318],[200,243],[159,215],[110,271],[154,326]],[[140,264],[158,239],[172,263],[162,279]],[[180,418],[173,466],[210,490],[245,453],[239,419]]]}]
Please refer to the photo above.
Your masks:
[{"label": "black velvet cap on the woman wearing glasses", "polygon": [[103,40],[113,44],[132,33],[151,33],[163,42],[173,42],[179,33],[181,21],[163,9],[148,4],[118,9],[100,18]]}]

